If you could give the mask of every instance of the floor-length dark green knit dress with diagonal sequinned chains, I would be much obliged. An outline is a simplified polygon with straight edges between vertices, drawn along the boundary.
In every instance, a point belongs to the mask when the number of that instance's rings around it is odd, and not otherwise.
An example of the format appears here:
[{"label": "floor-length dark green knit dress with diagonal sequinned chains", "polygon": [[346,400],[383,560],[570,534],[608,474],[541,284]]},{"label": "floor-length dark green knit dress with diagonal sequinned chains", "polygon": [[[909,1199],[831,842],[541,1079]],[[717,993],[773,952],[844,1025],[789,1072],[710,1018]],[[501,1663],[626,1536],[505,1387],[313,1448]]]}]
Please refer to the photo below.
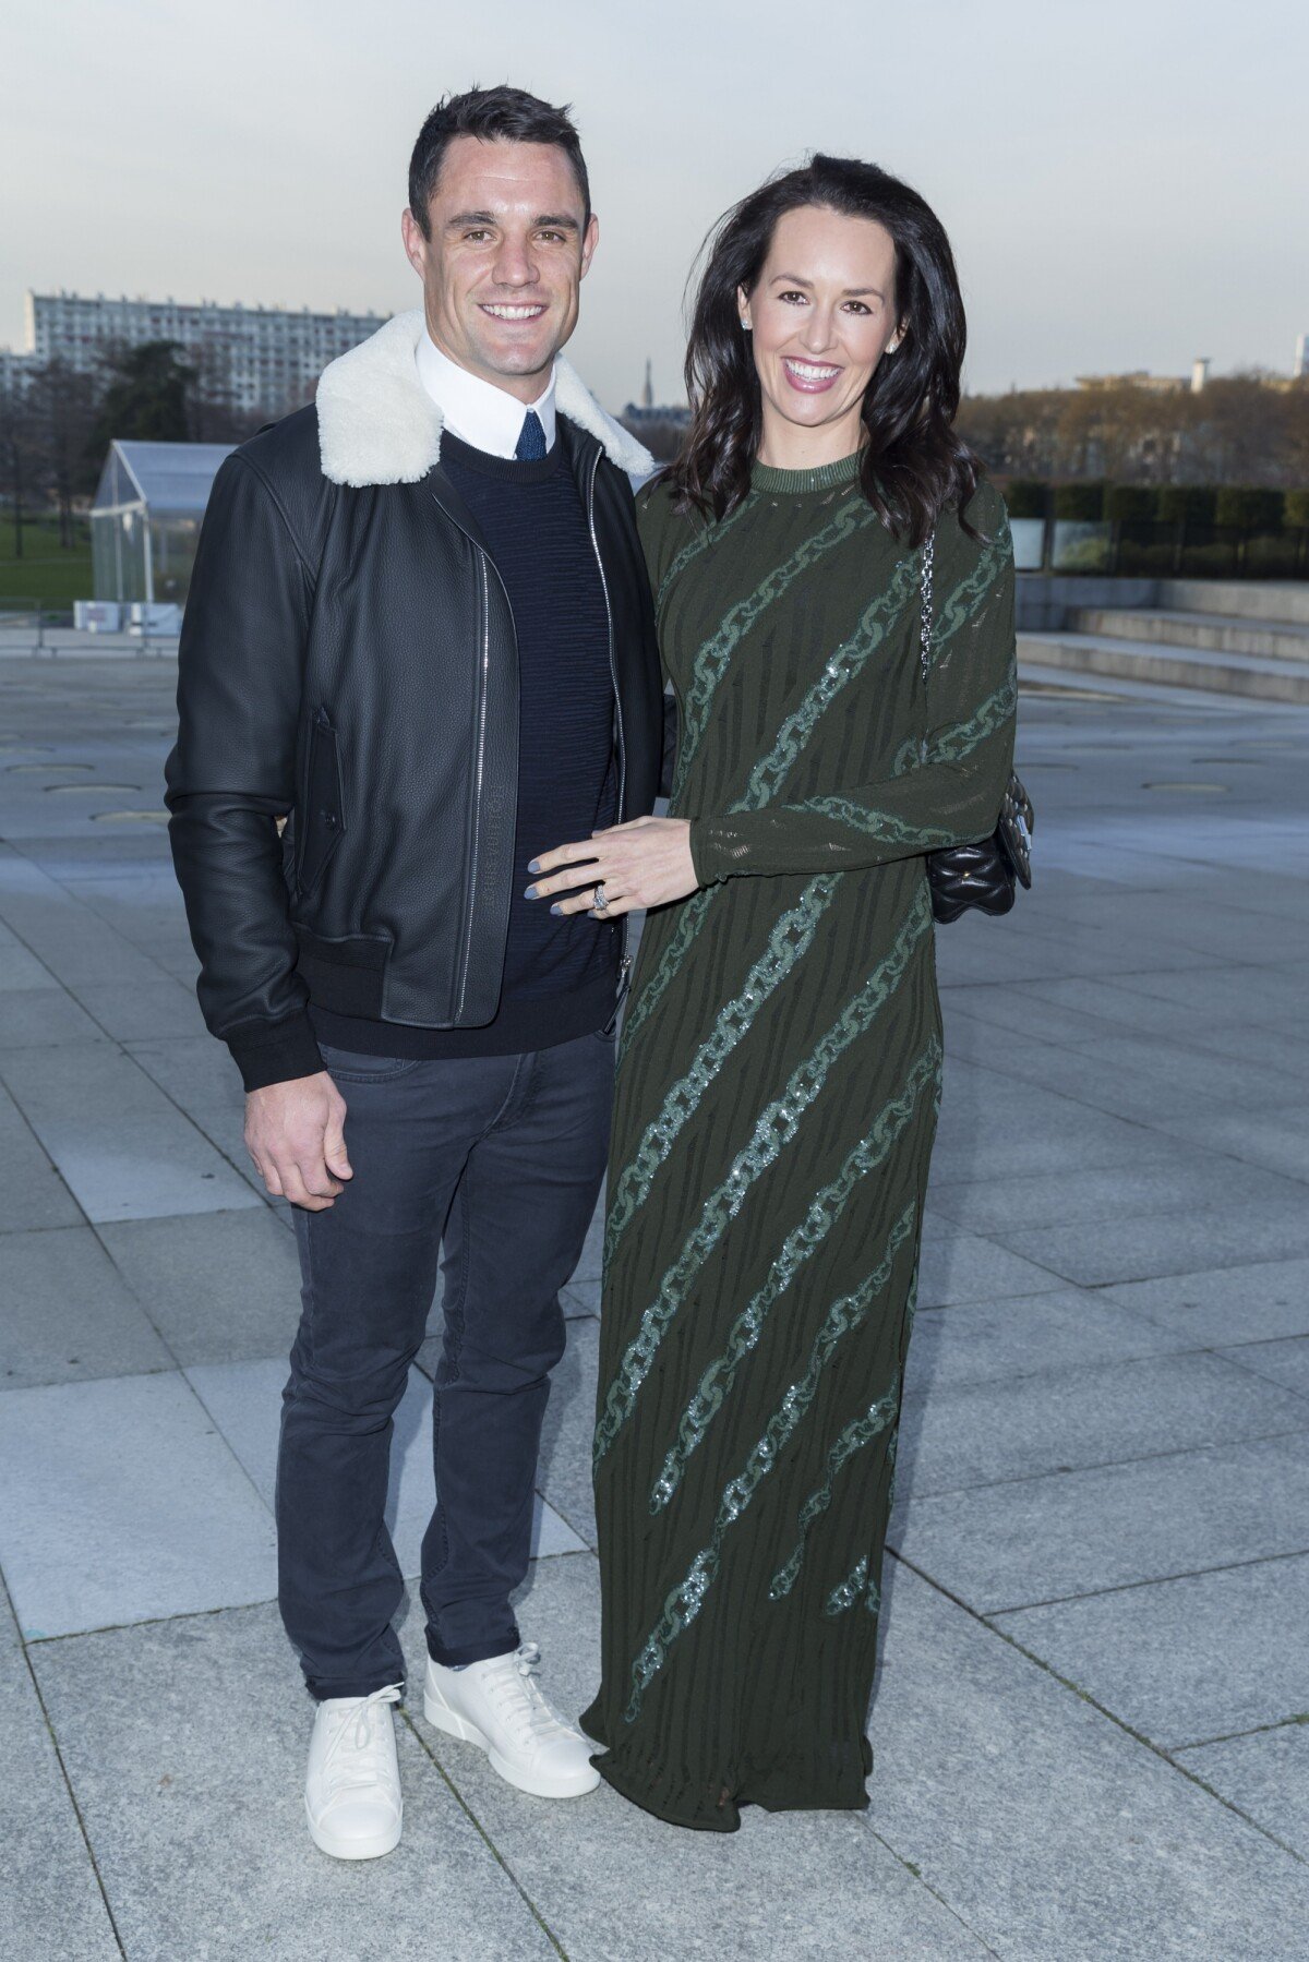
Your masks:
[{"label": "floor-length dark green knit dress with diagonal sequinned chains", "polygon": [[604,1778],[661,1819],[867,1805],[881,1550],[940,1091],[924,853],[1013,757],[1013,555],[983,487],[922,553],[858,459],[640,524],[701,889],[622,1032],[595,1483]]}]

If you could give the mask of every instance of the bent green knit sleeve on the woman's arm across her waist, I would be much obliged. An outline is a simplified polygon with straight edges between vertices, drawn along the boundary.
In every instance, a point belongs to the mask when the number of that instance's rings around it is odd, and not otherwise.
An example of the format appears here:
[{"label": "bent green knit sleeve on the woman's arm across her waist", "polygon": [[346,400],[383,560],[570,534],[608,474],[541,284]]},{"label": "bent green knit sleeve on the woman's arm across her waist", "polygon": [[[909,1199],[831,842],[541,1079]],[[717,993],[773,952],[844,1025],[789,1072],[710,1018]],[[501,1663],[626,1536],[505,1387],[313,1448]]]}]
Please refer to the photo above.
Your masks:
[{"label": "bent green knit sleeve on the woman's arm across her waist", "polygon": [[822,873],[915,857],[985,838],[1013,769],[1017,712],[1015,579],[1001,496],[983,485],[936,528],[932,659],[924,736],[875,783],[832,783],[801,802],[699,816],[691,857],[701,885],[746,873]]}]

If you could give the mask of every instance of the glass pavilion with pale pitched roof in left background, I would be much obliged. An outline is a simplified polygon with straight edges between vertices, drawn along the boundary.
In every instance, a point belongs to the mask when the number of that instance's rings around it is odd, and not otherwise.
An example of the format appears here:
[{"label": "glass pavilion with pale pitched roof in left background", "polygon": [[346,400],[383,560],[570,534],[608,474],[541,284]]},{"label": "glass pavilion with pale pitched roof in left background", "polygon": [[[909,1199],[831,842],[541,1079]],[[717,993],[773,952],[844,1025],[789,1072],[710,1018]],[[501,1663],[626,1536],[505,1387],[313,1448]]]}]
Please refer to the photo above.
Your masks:
[{"label": "glass pavilion with pale pitched roof in left background", "polygon": [[110,443],[90,506],[98,600],[186,604],[200,518],[232,443]]}]

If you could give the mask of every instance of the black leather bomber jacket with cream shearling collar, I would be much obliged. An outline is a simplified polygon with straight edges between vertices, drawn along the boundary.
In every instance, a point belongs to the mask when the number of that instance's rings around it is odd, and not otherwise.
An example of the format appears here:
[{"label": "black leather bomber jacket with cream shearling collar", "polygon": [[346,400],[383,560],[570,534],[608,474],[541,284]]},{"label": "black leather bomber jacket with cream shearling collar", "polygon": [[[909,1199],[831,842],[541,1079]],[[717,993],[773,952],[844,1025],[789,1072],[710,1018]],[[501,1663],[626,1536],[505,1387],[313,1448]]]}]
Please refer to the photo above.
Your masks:
[{"label": "black leather bomber jacket with cream shearling collar", "polygon": [[[396,316],[326,371],[314,408],[234,451],[200,532],[165,802],[196,995],[245,1089],[322,1067],[310,1001],[469,1028],[500,997],[514,622],[440,465],[414,322]],[[391,359],[369,365],[385,337]],[[626,820],[652,810],[663,748],[626,475],[644,451],[565,363],[555,400],[608,600]]]}]

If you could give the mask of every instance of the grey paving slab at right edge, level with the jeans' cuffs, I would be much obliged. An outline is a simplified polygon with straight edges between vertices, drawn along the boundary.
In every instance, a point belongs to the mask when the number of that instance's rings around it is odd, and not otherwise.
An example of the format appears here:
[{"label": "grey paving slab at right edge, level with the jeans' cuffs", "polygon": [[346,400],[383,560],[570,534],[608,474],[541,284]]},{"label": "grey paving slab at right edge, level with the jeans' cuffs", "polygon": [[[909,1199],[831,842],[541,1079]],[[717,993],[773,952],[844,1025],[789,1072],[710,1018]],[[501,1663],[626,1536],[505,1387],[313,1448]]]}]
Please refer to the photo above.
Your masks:
[{"label": "grey paving slab at right edge, level with the jeans' cuffs", "polygon": [[999,1615],[997,1626],[1156,1744],[1305,1711],[1309,1554]]}]

